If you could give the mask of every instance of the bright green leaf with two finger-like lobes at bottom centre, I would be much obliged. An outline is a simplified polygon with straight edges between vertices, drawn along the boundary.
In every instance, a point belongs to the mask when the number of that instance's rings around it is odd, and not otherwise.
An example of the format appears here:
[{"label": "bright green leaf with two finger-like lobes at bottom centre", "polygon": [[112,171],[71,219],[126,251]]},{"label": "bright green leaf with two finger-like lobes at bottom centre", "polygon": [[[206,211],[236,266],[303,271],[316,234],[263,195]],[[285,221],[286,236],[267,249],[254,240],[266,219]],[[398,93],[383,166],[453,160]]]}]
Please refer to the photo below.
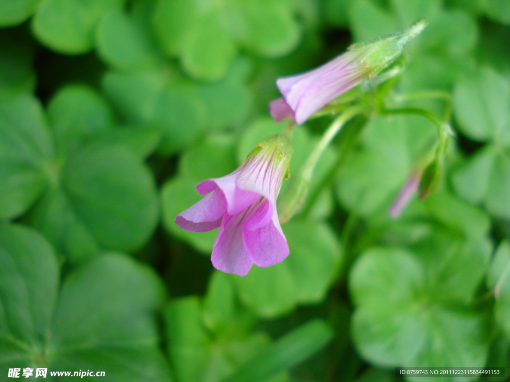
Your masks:
[{"label": "bright green leaf with two finger-like lobes at bottom centre", "polygon": [[165,309],[168,352],[178,381],[284,382],[289,380],[286,370],[331,337],[322,320],[305,323],[275,342],[264,332],[239,328],[239,320],[232,317],[226,322],[238,330],[211,333],[203,313],[196,296],[174,299]]}]

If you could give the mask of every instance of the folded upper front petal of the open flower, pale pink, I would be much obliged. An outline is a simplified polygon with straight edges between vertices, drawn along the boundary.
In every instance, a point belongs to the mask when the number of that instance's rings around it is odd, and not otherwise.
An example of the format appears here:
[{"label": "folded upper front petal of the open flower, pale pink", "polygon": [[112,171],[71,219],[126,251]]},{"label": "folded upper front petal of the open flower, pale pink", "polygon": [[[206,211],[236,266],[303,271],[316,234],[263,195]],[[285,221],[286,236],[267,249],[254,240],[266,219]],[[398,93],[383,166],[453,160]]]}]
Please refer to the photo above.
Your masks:
[{"label": "folded upper front petal of the open flower, pale pink", "polygon": [[[211,188],[219,187],[225,196],[227,204],[227,213],[235,215],[242,210],[248,208],[251,204],[259,199],[260,195],[251,191],[242,190],[237,186],[237,178],[239,171],[236,170],[232,174],[225,175],[221,178],[204,180],[198,183],[196,189],[200,194],[211,190]],[[214,189],[214,188],[213,188]],[[202,194],[203,195],[203,194]]]}]

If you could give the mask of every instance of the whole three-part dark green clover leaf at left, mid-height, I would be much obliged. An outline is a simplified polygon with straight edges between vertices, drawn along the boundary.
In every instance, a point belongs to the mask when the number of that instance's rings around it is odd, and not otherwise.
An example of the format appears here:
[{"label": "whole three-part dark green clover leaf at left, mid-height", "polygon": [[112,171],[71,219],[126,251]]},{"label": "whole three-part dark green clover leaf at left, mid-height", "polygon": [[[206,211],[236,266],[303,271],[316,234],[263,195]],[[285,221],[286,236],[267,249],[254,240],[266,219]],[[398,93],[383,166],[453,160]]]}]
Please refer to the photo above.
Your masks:
[{"label": "whole three-part dark green clover leaf at left, mid-height", "polygon": [[112,135],[119,129],[108,106],[88,88],[64,88],[48,114],[50,126],[30,96],[0,106],[0,215],[12,219],[33,207],[25,221],[71,260],[100,248],[139,248],[159,216],[143,154]]}]

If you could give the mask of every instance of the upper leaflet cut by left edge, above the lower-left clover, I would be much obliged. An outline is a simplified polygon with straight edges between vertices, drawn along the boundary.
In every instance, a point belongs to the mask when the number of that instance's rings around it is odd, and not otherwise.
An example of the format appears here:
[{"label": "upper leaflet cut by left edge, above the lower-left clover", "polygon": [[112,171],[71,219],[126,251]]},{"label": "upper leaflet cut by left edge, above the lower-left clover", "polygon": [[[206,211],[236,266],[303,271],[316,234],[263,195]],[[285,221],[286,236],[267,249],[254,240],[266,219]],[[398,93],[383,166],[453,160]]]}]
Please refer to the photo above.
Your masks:
[{"label": "upper leaflet cut by left edge, above the lower-left clover", "polygon": [[39,102],[0,103],[0,217],[11,219],[39,198],[54,176],[54,145]]}]

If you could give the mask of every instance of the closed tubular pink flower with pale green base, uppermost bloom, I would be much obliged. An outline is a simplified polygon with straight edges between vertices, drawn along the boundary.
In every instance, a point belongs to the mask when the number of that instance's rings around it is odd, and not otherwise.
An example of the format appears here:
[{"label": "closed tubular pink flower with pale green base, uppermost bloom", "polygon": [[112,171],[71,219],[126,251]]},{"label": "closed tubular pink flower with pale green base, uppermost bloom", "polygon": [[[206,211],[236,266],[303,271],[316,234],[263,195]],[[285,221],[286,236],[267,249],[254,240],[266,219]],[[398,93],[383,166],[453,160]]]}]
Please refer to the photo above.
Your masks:
[{"label": "closed tubular pink flower with pale green base, uppermost bloom", "polygon": [[[271,115],[277,121],[292,116],[297,124],[304,123],[331,100],[388,67],[426,25],[427,20],[422,19],[403,32],[351,45],[345,53],[316,69],[278,78],[276,86],[283,98],[270,103]],[[292,115],[284,114],[283,102]]]}]

